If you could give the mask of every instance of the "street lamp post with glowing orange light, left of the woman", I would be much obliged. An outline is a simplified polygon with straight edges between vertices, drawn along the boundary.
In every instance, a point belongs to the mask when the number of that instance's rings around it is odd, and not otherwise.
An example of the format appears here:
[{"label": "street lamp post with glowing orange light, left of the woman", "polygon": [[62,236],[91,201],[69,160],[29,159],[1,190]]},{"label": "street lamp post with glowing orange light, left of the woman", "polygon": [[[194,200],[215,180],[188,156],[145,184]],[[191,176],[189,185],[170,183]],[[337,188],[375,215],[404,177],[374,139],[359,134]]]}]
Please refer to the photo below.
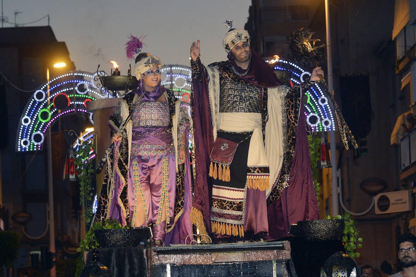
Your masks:
[{"label": "street lamp post with glowing orange light, left of the woman", "polygon": [[[65,67],[64,62],[59,62],[53,65],[54,68]],[[48,106],[50,105],[50,78],[49,67],[46,69],[47,89],[48,89]],[[52,175],[52,125],[49,126],[48,139],[47,139],[47,152],[48,152],[48,202],[49,202],[49,252],[55,253],[55,216],[54,216],[54,203],[53,203],[53,175]],[[56,267],[52,267],[50,270],[50,277],[56,276]]]}]

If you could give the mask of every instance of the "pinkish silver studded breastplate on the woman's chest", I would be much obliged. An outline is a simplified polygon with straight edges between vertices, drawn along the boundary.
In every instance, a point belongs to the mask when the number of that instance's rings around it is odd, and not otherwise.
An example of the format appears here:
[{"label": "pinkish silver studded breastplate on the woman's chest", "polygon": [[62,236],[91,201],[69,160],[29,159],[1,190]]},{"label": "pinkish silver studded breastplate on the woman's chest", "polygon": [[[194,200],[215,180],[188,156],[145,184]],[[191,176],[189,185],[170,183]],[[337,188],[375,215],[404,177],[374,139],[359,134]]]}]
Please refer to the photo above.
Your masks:
[{"label": "pinkish silver studded breastplate on the woman's chest", "polygon": [[145,101],[131,117],[133,127],[168,126],[169,107],[166,101]]}]

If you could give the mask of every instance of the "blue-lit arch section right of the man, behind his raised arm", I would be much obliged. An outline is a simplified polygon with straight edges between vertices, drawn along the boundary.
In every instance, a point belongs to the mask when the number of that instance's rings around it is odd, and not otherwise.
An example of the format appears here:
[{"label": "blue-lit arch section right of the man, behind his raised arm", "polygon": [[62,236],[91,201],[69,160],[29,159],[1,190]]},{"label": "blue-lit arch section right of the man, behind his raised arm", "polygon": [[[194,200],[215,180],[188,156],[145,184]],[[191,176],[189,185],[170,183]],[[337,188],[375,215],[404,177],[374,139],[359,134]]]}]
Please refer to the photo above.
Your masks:
[{"label": "blue-lit arch section right of the man, behind his raised arm", "polygon": [[[297,85],[303,83],[305,75],[311,75],[310,72],[299,67],[292,62],[277,59],[273,64],[275,71],[287,71],[291,74],[290,81]],[[314,131],[334,131],[335,121],[334,113],[330,100],[325,96],[325,89],[320,87],[318,83],[313,84],[305,93],[307,100],[305,103],[305,116],[307,124]]]}]

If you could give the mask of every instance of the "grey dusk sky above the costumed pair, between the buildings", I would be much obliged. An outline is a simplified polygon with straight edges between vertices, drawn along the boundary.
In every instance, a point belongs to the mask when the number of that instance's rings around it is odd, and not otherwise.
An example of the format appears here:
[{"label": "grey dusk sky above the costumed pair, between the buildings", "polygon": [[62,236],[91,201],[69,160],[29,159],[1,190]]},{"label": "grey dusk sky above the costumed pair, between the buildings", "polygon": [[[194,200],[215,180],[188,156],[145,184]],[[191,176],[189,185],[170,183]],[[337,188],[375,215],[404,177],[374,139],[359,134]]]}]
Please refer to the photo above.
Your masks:
[{"label": "grey dusk sky above the costumed pair, between the buildings", "polygon": [[[110,71],[110,60],[126,74],[129,61],[124,44],[129,34],[147,37],[145,52],[159,56],[163,64],[189,65],[189,48],[201,40],[204,64],[226,59],[221,45],[227,28],[243,28],[250,0],[3,0],[9,22],[37,20],[50,14],[50,26],[64,41],[77,70],[94,72],[97,64]],[[25,26],[47,25],[47,19]],[[4,27],[13,25],[5,23]],[[132,66],[133,66],[132,62]]]}]

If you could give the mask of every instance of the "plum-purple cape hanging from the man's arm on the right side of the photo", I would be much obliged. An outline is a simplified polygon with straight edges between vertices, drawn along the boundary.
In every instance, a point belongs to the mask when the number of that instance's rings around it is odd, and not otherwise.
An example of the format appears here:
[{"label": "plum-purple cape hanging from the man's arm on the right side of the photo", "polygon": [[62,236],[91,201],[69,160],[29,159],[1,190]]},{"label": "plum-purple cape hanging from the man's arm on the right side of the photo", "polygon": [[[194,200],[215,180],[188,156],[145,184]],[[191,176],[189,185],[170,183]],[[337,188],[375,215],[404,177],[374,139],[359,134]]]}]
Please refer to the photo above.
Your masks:
[{"label": "plum-purple cape hanging from the man's arm on the right side of the photo", "polygon": [[292,167],[290,168],[289,187],[283,190],[278,201],[267,208],[270,226],[279,226],[279,228],[270,232],[270,239],[287,236],[292,223],[319,219],[318,200],[316,199],[312,178],[304,110],[305,106],[302,97],[300,118],[296,130],[295,154]]}]

